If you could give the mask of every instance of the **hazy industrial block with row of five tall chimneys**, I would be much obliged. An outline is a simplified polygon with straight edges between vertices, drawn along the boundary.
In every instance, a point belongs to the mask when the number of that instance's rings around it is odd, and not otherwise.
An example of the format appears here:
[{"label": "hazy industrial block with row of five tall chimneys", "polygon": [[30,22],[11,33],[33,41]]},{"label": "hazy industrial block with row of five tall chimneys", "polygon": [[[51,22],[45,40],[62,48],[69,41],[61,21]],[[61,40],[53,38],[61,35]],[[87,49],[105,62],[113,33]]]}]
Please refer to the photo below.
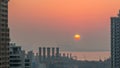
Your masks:
[{"label": "hazy industrial block with row of five tall chimneys", "polygon": [[39,61],[44,62],[60,57],[59,47],[39,47]]}]

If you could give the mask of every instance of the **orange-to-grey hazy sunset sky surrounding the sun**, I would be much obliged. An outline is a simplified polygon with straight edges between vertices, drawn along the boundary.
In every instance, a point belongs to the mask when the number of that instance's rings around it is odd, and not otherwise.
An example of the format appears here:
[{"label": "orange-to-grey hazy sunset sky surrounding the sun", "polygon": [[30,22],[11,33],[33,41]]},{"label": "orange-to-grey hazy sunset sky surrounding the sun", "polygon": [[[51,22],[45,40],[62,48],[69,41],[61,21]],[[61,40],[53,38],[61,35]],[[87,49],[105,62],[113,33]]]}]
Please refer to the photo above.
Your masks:
[{"label": "orange-to-grey hazy sunset sky surrounding the sun", "polygon": [[119,9],[120,0],[10,0],[11,42],[25,50],[109,51],[110,17]]}]

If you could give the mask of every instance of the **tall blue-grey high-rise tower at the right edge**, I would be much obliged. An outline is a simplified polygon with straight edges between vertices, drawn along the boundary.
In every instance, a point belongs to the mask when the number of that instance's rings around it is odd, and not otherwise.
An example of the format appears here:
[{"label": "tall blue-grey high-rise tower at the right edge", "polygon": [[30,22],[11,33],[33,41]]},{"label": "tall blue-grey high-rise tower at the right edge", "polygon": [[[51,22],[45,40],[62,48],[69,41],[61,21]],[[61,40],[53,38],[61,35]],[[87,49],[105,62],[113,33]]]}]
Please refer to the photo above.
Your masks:
[{"label": "tall blue-grey high-rise tower at the right edge", "polygon": [[117,17],[111,17],[111,65],[120,68],[120,10]]}]

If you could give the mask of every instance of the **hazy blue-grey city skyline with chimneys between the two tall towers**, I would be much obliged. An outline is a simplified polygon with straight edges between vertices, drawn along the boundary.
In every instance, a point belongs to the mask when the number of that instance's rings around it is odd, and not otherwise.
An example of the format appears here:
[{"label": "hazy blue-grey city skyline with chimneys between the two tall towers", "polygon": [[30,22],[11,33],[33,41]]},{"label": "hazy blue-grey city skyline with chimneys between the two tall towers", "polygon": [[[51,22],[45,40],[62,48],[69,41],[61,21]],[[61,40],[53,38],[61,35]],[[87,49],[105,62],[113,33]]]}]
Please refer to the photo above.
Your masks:
[{"label": "hazy blue-grey city skyline with chimneys between the two tall towers", "polygon": [[70,52],[61,53],[56,47],[39,47],[39,52],[35,55],[33,51],[26,52],[15,43],[10,44],[10,68],[94,68],[96,66],[110,68],[110,58],[79,60],[76,55]]}]

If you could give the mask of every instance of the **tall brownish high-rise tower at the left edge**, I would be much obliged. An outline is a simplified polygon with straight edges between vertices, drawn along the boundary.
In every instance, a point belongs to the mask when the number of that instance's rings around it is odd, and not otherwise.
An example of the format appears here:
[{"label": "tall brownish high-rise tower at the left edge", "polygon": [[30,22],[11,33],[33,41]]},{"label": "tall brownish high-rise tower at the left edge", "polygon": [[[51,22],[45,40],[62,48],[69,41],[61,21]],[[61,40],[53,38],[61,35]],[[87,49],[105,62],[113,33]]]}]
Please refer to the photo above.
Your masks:
[{"label": "tall brownish high-rise tower at the left edge", "polygon": [[8,1],[0,0],[0,68],[9,68]]}]

